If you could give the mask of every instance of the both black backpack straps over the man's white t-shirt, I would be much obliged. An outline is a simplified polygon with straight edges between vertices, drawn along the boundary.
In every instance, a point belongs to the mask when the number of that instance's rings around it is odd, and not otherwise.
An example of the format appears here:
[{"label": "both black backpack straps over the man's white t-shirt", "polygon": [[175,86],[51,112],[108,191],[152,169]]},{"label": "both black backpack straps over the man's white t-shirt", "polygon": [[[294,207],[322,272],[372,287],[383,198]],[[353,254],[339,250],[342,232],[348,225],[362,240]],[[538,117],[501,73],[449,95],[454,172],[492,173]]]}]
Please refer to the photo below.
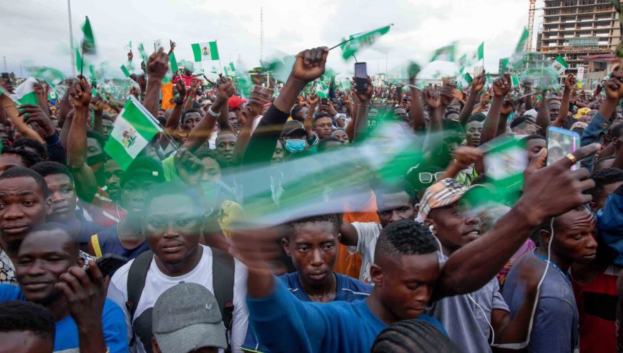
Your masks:
[{"label": "both black backpack straps over the man's white t-shirt", "polygon": [[[231,352],[231,342],[229,341],[229,334],[231,333],[231,327],[233,324],[233,285],[234,285],[234,260],[231,255],[225,251],[217,248],[212,249],[212,273],[213,273],[213,287],[214,296],[219,304],[223,323],[225,325],[225,334],[227,338],[227,349],[225,352]],[[134,320],[134,311],[136,311],[136,305],[138,300],[141,299],[143,288],[145,287],[145,278],[147,277],[147,271],[150,269],[152,258],[154,253],[152,251],[145,251],[138,255],[132,265],[130,265],[127,273],[127,302],[125,307],[130,316],[130,323],[132,324],[132,331],[134,335],[129,345],[132,346],[135,343],[135,337],[138,336],[143,342],[145,352],[152,352],[152,309],[148,308],[143,311],[143,314]],[[135,325],[136,323],[136,325]]]}]

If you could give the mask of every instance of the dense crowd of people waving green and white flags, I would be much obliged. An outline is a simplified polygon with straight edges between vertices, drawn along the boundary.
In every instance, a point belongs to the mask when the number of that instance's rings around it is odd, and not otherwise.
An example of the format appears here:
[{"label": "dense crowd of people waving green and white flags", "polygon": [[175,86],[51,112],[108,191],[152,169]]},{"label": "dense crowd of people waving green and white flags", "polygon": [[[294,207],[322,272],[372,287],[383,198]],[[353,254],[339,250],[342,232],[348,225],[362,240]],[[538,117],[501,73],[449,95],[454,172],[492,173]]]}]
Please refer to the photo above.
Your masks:
[{"label": "dense crowd of people waving green and white flags", "polygon": [[[244,93],[163,82],[160,48],[127,95],[162,131],[127,168],[105,149],[124,102],[87,78],[0,95],[0,352],[623,350],[618,67],[593,92],[484,72],[346,90],[327,55]],[[546,149],[550,127],[579,148]],[[509,193],[499,141],[525,166]]]}]

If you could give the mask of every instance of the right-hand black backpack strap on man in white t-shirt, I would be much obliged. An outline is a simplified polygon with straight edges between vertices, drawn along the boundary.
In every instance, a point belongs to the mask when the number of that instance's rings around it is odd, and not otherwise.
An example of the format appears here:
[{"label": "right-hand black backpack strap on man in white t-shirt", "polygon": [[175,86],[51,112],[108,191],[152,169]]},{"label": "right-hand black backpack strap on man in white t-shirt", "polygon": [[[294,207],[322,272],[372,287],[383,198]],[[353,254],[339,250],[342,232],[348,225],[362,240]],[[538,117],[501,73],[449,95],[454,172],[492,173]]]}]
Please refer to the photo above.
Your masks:
[{"label": "right-hand black backpack strap on man in white t-shirt", "polygon": [[[233,286],[234,286],[234,259],[229,253],[212,248],[212,282],[214,296],[219,304],[227,337],[227,350],[231,352],[229,334],[233,326]],[[129,298],[129,297],[128,297]]]}]

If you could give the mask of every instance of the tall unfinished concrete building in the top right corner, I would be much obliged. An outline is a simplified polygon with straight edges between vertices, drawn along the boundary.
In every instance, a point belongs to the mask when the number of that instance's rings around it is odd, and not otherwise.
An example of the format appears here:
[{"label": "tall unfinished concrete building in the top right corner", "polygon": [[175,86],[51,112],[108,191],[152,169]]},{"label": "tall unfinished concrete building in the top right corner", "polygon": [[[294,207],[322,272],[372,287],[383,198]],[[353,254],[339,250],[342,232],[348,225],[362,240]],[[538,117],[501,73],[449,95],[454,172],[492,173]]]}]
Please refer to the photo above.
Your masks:
[{"label": "tall unfinished concrete building in the top right corner", "polygon": [[543,28],[536,51],[549,60],[562,55],[577,73],[584,66],[586,78],[598,79],[616,60],[621,33],[617,12],[610,0],[545,0]]}]

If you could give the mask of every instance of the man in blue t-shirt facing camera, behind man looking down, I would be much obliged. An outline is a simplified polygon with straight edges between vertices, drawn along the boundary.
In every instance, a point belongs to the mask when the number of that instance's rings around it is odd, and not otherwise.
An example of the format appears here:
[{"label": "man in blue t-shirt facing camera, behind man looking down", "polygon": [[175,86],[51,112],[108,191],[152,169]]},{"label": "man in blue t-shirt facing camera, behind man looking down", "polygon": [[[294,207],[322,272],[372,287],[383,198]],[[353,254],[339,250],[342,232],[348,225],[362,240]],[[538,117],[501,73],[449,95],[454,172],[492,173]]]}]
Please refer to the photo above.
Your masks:
[{"label": "man in blue t-shirt facing camera, behind man looking down", "polygon": [[[322,215],[290,221],[282,239],[283,248],[295,272],[280,277],[288,291],[304,302],[353,302],[365,300],[372,286],[336,273],[338,217]],[[249,329],[244,340],[246,352],[269,352]]]}]

